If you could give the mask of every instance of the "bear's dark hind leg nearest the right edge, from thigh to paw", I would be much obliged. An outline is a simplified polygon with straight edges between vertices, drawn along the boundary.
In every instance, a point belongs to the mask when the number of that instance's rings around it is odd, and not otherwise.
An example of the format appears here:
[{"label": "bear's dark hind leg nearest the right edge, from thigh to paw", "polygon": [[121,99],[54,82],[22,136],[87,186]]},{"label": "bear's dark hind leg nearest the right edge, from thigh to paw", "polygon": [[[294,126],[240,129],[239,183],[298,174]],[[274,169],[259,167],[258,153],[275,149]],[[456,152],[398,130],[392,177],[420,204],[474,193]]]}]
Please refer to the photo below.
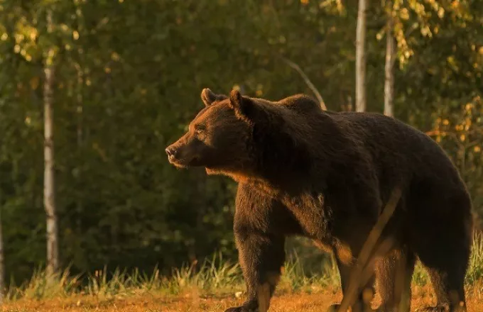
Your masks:
[{"label": "bear's dark hind leg nearest the right edge, from thigh to paw", "polygon": [[[430,274],[435,307],[423,311],[467,311],[465,275],[473,235],[472,204],[457,177],[413,188],[408,231],[411,248]],[[456,182],[456,183],[455,183]]]}]

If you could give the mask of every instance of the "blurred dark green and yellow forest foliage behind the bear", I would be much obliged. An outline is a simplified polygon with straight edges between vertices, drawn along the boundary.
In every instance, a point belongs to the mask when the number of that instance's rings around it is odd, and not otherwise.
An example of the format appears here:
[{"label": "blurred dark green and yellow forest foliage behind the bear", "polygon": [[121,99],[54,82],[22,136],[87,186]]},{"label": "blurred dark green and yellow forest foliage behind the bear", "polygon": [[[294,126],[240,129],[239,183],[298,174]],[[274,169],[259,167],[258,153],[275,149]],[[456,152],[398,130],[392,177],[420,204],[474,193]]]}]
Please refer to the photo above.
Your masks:
[{"label": "blurred dark green and yellow forest foliage behind the bear", "polygon": [[[394,3],[396,117],[440,141],[483,213],[482,1]],[[310,94],[283,58],[303,69],[328,108],[351,109],[356,15],[357,6],[340,1],[0,1],[0,208],[9,277],[21,283],[45,260],[45,62],[55,68],[62,264],[72,264],[73,274],[101,270],[89,291],[111,294],[135,267],[158,265],[168,274],[182,262],[202,264],[213,250],[236,260],[234,183],[173,168],[164,147],[202,107],[203,87],[268,99]],[[385,16],[381,4],[369,6],[371,111],[382,111]],[[319,267],[325,260],[313,258]],[[104,279],[106,265],[120,268],[120,284]],[[195,269],[180,278],[200,274]]]}]

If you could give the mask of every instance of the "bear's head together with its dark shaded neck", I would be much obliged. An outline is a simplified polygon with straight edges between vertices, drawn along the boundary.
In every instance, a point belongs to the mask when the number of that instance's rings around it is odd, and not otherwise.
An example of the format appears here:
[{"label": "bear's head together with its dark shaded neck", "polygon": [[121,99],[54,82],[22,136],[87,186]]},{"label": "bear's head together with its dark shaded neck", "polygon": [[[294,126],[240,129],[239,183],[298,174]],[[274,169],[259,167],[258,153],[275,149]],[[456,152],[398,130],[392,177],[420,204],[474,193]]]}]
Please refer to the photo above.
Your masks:
[{"label": "bear's head together with its dark shaded neck", "polygon": [[288,108],[241,96],[237,90],[226,96],[203,89],[201,99],[205,107],[190,122],[188,133],[165,149],[176,167],[205,167],[208,174],[240,180],[308,163],[303,139],[296,139],[304,135],[291,127]]}]

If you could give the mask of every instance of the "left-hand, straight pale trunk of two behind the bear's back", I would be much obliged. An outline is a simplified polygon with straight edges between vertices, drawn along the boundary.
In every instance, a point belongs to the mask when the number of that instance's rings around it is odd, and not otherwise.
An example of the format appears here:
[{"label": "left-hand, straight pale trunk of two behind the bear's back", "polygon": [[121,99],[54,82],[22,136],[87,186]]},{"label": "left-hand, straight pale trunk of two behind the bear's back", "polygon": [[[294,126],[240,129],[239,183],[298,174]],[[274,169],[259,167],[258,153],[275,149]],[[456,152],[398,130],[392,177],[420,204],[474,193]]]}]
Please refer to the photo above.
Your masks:
[{"label": "left-hand, straight pale trunk of two behind the bear's back", "polygon": [[366,111],[366,6],[359,0],[356,38],[356,111]]}]

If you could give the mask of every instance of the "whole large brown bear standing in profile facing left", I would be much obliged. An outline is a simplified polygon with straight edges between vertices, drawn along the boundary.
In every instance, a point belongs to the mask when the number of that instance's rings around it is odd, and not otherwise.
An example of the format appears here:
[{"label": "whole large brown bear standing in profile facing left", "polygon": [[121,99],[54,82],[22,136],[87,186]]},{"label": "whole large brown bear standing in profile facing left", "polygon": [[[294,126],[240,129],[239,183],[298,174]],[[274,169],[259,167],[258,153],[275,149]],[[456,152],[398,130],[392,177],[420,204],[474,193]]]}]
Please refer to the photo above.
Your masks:
[{"label": "whole large brown bear standing in profile facing left", "polygon": [[322,111],[304,95],[267,101],[204,89],[201,97],[205,108],[165,151],[176,167],[205,167],[239,184],[234,235],[248,299],[227,311],[257,311],[263,285],[273,294],[289,235],[334,252],[346,296],[362,245],[395,188],[401,198],[378,240],[391,245],[375,249],[352,311],[369,309],[374,282],[379,311],[409,311],[417,258],[438,301],[428,311],[466,311],[472,204],[434,140],[378,113]]}]

